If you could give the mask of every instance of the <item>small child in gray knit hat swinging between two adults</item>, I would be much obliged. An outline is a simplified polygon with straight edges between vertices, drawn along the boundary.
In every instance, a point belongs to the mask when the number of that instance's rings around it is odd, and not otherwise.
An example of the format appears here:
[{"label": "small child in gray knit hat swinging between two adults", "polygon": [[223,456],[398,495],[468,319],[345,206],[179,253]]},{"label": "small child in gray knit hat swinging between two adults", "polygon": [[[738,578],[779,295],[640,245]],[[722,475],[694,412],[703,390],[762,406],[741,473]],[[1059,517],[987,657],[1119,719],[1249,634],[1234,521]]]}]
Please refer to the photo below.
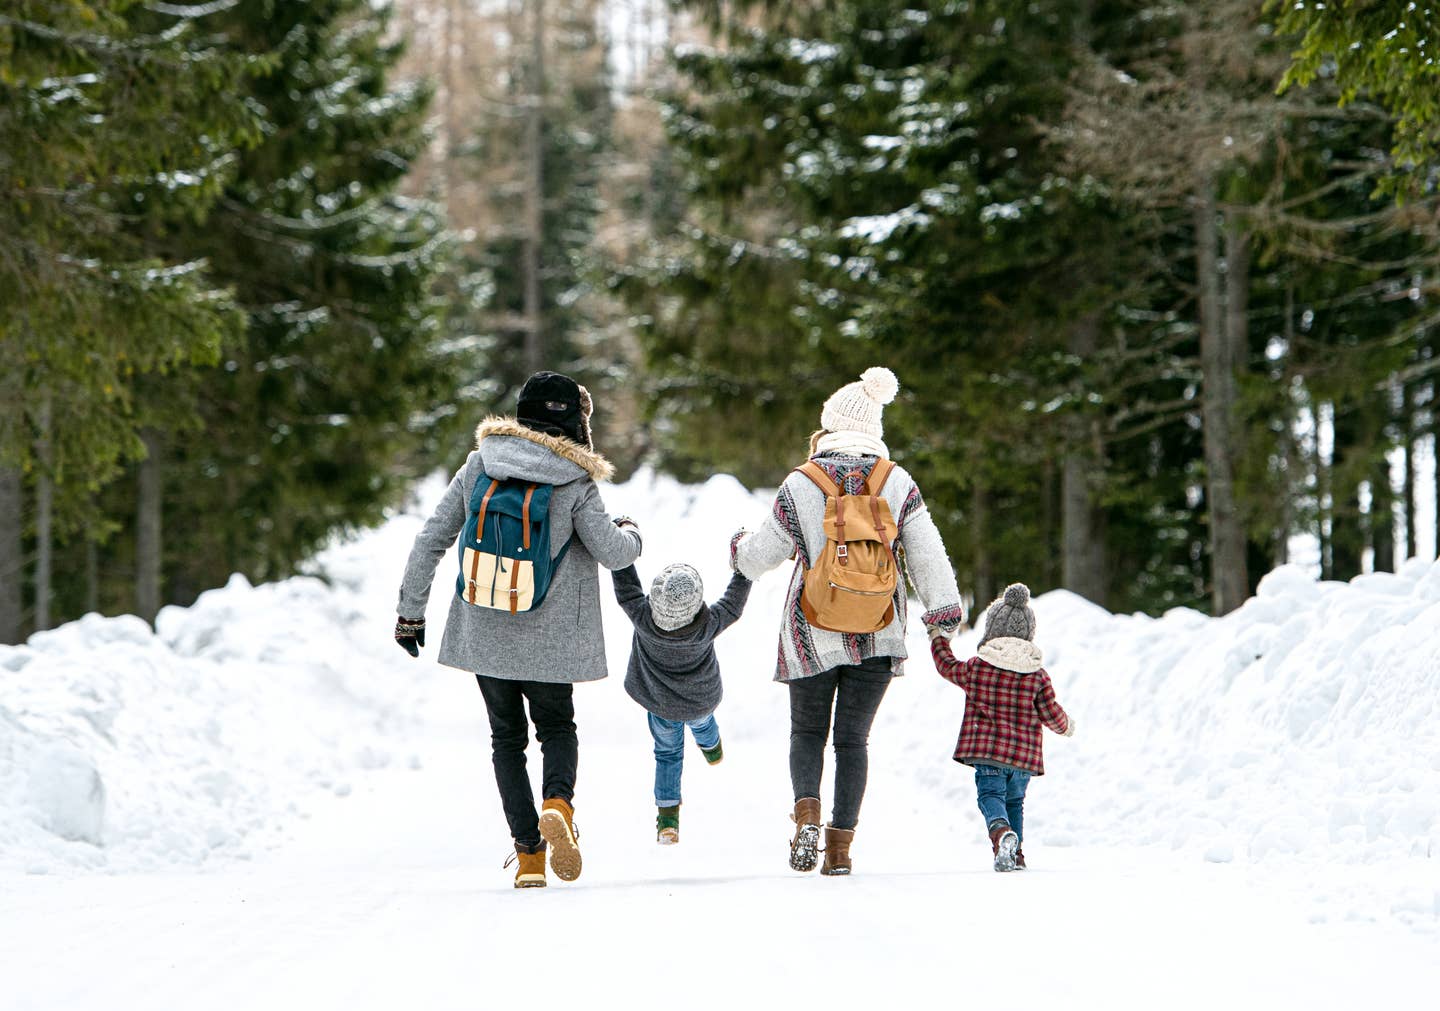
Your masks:
[{"label": "small child in gray knit hat swinging between two adults", "polygon": [[616,569],[612,578],[615,598],[635,626],[625,691],[649,713],[655,740],[655,841],[670,845],[680,841],[685,727],[706,762],[716,765],[724,756],[714,717],[721,696],[714,641],[744,611],[750,580],[734,573],[724,596],[706,608],[700,573],[688,565],[665,566],[649,596],[635,566]]}]

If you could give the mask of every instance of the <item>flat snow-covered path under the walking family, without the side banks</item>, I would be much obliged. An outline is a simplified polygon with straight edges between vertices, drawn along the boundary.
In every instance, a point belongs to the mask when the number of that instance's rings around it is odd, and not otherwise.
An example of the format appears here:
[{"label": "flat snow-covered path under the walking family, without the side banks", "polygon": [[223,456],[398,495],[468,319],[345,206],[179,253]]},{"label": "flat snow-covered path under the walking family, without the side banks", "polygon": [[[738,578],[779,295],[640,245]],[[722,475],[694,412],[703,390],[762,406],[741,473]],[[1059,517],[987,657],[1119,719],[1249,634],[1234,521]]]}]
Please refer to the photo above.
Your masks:
[{"label": "flat snow-covered path under the walking family, without the side banks", "polygon": [[[516,891],[480,700],[459,681],[444,694],[452,719],[432,727],[423,770],[377,773],[281,853],[6,883],[0,1004],[1352,1010],[1440,985],[1431,939],[1310,925],[1290,880],[1079,847],[1035,847],[1035,870],[994,874],[960,827],[971,811],[929,809],[888,775],[867,801],[857,874],[795,874],[778,730],[691,769],[680,847],[651,841],[642,789],[606,789],[603,809],[577,809],[582,879]],[[598,779],[644,772],[631,737],[585,742],[592,796]]]}]

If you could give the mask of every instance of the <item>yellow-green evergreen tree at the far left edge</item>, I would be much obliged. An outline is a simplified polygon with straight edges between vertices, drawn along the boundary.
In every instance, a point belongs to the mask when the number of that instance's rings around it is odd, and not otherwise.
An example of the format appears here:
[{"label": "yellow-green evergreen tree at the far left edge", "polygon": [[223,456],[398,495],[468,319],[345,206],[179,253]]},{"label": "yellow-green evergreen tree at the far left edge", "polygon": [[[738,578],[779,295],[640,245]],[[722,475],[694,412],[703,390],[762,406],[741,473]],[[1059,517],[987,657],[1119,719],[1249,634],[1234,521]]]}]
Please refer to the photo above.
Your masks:
[{"label": "yellow-green evergreen tree at the far left edge", "polygon": [[[35,624],[53,542],[94,536],[92,493],[143,454],[137,377],[213,361],[240,324],[202,259],[156,256],[125,225],[137,187],[200,213],[253,138],[252,65],[186,16],[132,0],[17,0],[0,12],[0,481],[35,485]],[[0,531],[0,569],[23,547]],[[0,601],[17,634],[19,595]]]}]

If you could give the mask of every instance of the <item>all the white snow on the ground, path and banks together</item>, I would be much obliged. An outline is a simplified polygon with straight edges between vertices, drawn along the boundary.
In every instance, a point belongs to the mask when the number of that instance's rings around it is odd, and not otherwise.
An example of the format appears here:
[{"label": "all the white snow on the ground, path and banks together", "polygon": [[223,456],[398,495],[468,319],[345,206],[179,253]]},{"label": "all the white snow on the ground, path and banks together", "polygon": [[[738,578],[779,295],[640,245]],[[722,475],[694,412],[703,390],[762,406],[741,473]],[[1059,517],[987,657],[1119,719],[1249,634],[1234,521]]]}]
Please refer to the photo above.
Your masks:
[{"label": "all the white snow on the ground, path and banks together", "polygon": [[[711,598],[729,534],[768,507],[730,478],[644,474],[606,501],[644,526],[642,578],[688,560]],[[1025,876],[989,871],[949,760],[962,693],[919,626],[871,737],[855,876],[785,867],[779,573],[720,641],[726,760],[690,752],[683,842],[657,847],[609,606],[612,677],[576,690],[586,870],[517,893],[478,693],[433,664],[448,560],[429,651],[390,641],[419,523],[323,553],[324,582],[235,580],[157,632],[91,616],[0,648],[0,1007],[471,1008],[546,981],[577,1008],[1017,988],[1348,1008],[1440,985],[1440,566],[1282,569],[1215,621],[1040,598],[1079,730],[1047,737]]]}]

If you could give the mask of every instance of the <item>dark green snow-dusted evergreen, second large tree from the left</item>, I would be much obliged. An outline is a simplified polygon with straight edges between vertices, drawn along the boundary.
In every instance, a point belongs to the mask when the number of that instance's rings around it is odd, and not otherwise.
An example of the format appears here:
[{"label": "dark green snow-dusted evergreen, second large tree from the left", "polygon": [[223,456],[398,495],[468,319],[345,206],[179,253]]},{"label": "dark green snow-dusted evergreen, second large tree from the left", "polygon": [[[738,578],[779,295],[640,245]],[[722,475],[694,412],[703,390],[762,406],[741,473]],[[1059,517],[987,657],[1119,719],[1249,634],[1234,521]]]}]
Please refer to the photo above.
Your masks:
[{"label": "dark green snow-dusted evergreen, second large tree from the left", "polygon": [[315,0],[210,22],[265,60],[246,94],[264,138],[209,216],[147,222],[148,245],[203,256],[248,320],[220,369],[158,395],[202,419],[164,446],[166,501],[183,520],[168,524],[167,599],[230,572],[284,575],[337,529],[376,521],[415,477],[405,461],[428,405],[455,382],[431,292],[444,222],[395,192],[429,94],[389,82],[400,46],[387,19],[369,0]]}]

